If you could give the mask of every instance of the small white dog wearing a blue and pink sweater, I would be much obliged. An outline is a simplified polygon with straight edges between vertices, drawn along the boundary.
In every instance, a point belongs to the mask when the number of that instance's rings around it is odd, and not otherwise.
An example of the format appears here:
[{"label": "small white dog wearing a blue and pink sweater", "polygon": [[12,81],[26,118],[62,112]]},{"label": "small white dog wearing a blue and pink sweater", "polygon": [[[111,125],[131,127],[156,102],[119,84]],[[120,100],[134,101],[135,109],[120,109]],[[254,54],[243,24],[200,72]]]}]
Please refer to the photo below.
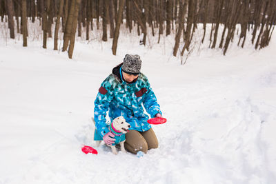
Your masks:
[{"label": "small white dog wearing a blue and pink sweater", "polygon": [[[92,119],[94,121],[94,119]],[[95,121],[94,121],[95,123]],[[115,145],[119,144],[121,146],[121,151],[126,152],[124,147],[124,142],[126,141],[125,134],[128,132],[130,124],[126,122],[124,116],[119,116],[115,118],[110,125],[108,125],[109,131],[114,135],[115,143],[109,145],[111,147],[112,153],[117,154]],[[96,141],[96,145],[99,146],[101,141]]]}]

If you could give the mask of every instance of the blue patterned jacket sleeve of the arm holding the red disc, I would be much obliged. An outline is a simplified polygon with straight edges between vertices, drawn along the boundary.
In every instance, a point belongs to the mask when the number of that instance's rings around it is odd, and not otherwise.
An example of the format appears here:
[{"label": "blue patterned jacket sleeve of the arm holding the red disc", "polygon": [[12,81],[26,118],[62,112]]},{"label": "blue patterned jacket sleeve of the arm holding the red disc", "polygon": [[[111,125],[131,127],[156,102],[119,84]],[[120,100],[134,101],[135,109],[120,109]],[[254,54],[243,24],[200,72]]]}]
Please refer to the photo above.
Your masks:
[{"label": "blue patterned jacket sleeve of the arm holding the red disc", "polygon": [[147,79],[146,86],[147,91],[143,99],[143,104],[148,114],[150,114],[150,116],[154,118],[157,113],[162,114],[162,112],[160,110],[160,105],[157,103],[155,93],[152,91],[152,88],[150,88],[150,83]]}]

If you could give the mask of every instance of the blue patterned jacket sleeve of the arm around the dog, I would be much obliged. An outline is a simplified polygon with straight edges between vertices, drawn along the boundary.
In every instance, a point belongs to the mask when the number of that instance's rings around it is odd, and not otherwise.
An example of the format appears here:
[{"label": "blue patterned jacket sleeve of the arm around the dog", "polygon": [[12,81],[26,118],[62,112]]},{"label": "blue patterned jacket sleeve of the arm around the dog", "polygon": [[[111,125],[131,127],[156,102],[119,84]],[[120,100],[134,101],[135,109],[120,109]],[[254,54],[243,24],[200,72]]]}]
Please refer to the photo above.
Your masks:
[{"label": "blue patterned jacket sleeve of the arm around the dog", "polygon": [[101,83],[101,87],[99,88],[99,92],[94,102],[95,126],[101,137],[109,132],[108,125],[106,124],[106,112],[108,112],[108,107],[112,97],[111,85],[108,80],[105,80]]}]

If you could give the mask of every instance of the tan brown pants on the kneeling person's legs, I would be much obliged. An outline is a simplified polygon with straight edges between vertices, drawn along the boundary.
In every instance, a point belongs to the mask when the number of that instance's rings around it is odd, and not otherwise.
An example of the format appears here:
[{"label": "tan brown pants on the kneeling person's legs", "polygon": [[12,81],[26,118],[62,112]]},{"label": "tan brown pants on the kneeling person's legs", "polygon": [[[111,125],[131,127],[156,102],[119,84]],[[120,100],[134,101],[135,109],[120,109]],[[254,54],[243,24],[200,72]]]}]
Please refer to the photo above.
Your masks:
[{"label": "tan brown pants on the kneeling person's legs", "polygon": [[137,154],[139,151],[146,153],[148,150],[158,147],[158,140],[152,128],[145,132],[130,130],[126,133],[124,145],[126,150],[133,154]]}]

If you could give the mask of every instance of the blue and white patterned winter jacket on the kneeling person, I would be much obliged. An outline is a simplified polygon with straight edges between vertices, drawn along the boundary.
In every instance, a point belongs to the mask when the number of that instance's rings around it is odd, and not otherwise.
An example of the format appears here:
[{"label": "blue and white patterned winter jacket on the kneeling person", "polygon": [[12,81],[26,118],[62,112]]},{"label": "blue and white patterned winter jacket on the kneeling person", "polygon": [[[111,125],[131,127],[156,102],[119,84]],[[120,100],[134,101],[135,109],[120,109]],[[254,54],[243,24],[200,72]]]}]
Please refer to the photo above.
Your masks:
[{"label": "blue and white patterned winter jacket on the kneeling person", "polygon": [[145,114],[143,105],[151,117],[157,113],[161,114],[160,106],[147,77],[140,73],[137,81],[126,83],[121,79],[121,65],[122,63],[113,68],[112,74],[101,83],[99,88],[94,109],[95,140],[101,140],[110,132],[106,122],[107,112],[111,122],[118,116],[124,116],[126,122],[131,125],[130,130],[139,132],[145,132],[151,127],[147,123],[149,117]]}]

